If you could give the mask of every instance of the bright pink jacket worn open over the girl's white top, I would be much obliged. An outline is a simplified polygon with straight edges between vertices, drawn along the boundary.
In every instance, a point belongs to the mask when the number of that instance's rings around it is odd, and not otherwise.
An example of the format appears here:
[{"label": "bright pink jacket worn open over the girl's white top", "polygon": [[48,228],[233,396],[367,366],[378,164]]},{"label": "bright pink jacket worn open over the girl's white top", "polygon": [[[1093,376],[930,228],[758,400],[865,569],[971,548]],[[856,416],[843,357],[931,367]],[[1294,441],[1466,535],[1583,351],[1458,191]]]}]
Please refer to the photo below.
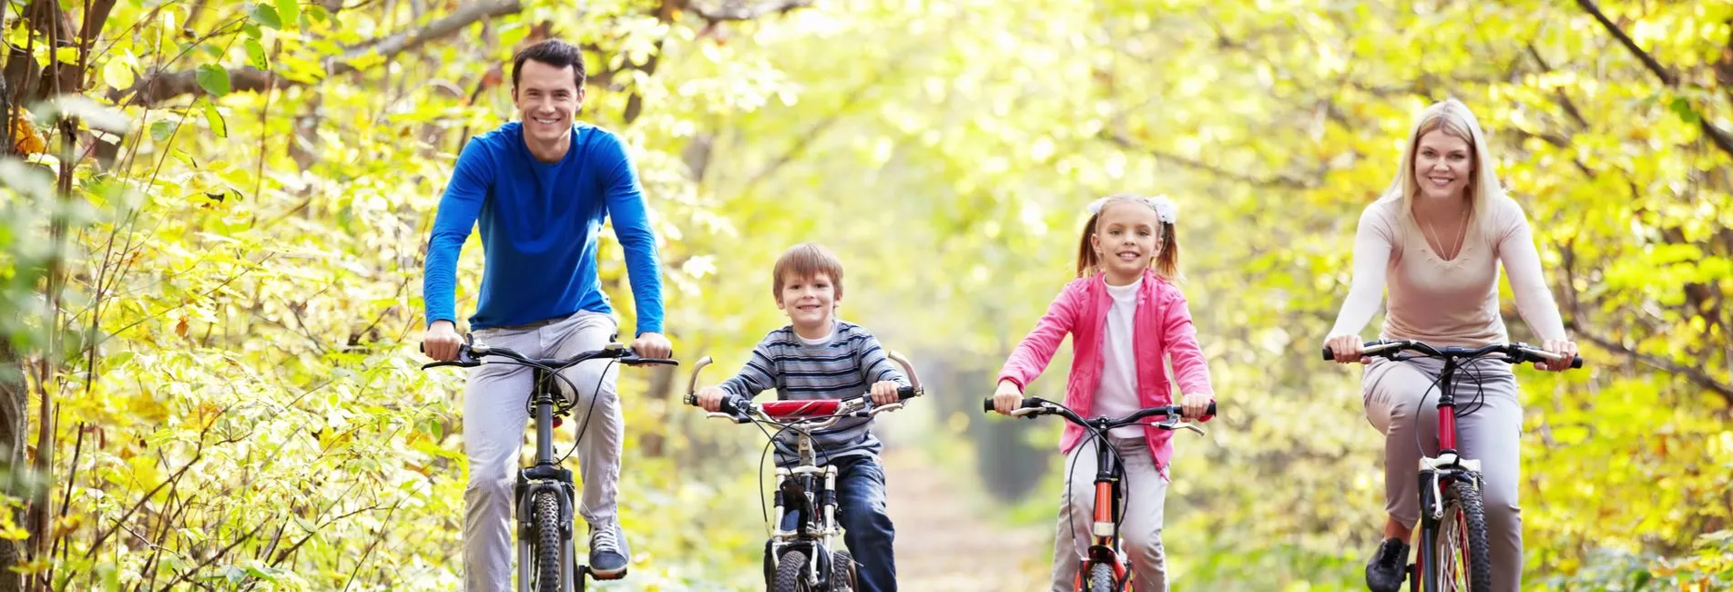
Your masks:
[{"label": "bright pink jacket worn open over the girl's white top", "polygon": [[[1107,294],[1107,282],[1102,275],[1080,277],[1066,284],[1047,313],[1035,324],[1028,338],[1017,344],[1000,369],[1000,381],[1012,381],[1019,389],[1042,376],[1054,351],[1071,334],[1071,376],[1066,379],[1066,407],[1083,417],[1090,417],[1095,402],[1095,388],[1100,384],[1100,372],[1106,365],[1102,355],[1102,336],[1107,334],[1107,310],[1113,308],[1113,296]],[[1215,395],[1210,388],[1210,369],[1204,364],[1203,350],[1198,348],[1196,329],[1191,312],[1185,308],[1185,296],[1180,289],[1163,280],[1154,270],[1144,272],[1144,284],[1137,293],[1137,313],[1132,320],[1133,350],[1137,357],[1137,389],[1144,407],[1172,405],[1172,383],[1161,365],[1163,357],[1172,357],[1173,372],[1178,374],[1180,393]],[[1147,338],[1147,339],[1146,339]],[[1210,417],[1203,417],[1208,421]],[[1156,459],[1156,467],[1166,478],[1168,459],[1173,457],[1173,433],[1166,429],[1146,428],[1149,452]],[[1069,454],[1083,440],[1083,428],[1066,422],[1059,450]]]}]

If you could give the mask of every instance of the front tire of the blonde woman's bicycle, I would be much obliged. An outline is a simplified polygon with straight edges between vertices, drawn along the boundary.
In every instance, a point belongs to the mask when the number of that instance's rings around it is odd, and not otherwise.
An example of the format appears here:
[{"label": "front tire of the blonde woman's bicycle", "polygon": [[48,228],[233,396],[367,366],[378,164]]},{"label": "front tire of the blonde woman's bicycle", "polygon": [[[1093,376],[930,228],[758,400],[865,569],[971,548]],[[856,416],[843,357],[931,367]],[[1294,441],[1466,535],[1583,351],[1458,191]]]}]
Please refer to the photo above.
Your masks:
[{"label": "front tire of the blonde woman's bicycle", "polygon": [[[1480,490],[1459,479],[1444,492],[1445,512],[1438,523],[1435,566],[1428,566],[1426,590],[1492,592],[1492,549],[1487,545],[1487,512]],[[1464,549],[1466,547],[1466,549]],[[1466,556],[1464,556],[1466,550]],[[1457,573],[1466,569],[1468,573]]]}]

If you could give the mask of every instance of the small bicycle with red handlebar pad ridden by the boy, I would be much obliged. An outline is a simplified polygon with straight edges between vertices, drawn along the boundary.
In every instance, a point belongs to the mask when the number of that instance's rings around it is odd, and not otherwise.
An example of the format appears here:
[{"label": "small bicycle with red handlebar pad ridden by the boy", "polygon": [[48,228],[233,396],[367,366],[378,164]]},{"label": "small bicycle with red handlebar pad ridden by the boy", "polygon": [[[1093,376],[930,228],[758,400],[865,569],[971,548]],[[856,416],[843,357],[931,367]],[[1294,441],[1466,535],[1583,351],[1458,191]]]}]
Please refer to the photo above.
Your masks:
[{"label": "small bicycle with red handlebar pad ridden by the boy", "polygon": [[[866,395],[763,403],[743,396],[728,396],[721,402],[721,412],[707,414],[707,417],[731,419],[737,424],[750,422],[759,429],[775,426],[778,428],[775,434],[764,431],[771,443],[783,431],[794,431],[797,436],[797,464],[776,467],[776,526],[771,528],[769,540],[764,542],[764,582],[771,592],[853,592],[858,589],[854,559],[847,550],[832,550],[830,547],[832,537],[842,533],[842,526],[837,523],[837,467],[818,466],[811,433],[830,428],[846,417],[873,417],[898,410],[903,402],[924,393],[913,365],[896,351],[887,351],[887,355],[891,362],[903,367],[903,376],[908,376],[910,384],[896,389],[896,403],[873,405]],[[705,365],[711,365],[711,357],[700,358],[691,367],[686,405],[698,405],[698,372]],[[763,474],[763,467],[759,473]],[[759,500],[763,502],[763,499]]]}]

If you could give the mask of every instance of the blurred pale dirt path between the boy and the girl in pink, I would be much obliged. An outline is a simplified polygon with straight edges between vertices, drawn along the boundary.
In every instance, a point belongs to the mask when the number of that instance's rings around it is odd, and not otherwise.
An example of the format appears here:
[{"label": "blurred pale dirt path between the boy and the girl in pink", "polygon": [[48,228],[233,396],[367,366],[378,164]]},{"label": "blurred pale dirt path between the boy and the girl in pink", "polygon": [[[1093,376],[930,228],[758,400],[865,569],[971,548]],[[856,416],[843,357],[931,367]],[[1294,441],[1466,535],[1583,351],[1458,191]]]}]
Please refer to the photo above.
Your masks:
[{"label": "blurred pale dirt path between the boy and the girl in pink", "polygon": [[1012,530],[951,492],[946,469],[920,450],[884,455],[896,523],[896,580],[910,592],[1045,590],[1052,533]]}]

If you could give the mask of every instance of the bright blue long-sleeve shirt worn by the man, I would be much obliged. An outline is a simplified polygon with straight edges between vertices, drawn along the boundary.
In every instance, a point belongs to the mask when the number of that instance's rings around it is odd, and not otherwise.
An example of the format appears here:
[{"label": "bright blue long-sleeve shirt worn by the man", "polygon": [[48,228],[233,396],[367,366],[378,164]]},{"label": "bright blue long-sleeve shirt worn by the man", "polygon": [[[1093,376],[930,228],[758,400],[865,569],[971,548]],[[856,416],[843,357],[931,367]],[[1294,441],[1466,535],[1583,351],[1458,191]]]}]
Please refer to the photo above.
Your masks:
[{"label": "bright blue long-sleeve shirt worn by the man", "polygon": [[471,331],[579,310],[612,313],[596,273],[596,237],[608,216],[626,251],[638,334],[662,332],[655,234],[620,138],[577,123],[558,163],[537,161],[516,121],[471,138],[433,218],[421,284],[428,325],[456,322],[458,253],[477,222],[485,265]]}]

